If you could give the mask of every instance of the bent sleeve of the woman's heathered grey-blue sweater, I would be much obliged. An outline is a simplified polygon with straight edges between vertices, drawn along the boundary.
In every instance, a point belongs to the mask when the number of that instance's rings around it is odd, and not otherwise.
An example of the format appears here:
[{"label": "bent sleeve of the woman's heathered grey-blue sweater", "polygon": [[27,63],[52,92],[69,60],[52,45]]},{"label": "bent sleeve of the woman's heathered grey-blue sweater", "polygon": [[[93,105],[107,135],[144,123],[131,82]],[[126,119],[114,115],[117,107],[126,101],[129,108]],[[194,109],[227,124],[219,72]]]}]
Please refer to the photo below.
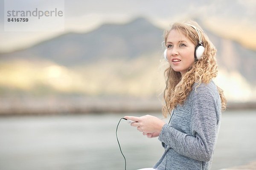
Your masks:
[{"label": "bent sleeve of the woman's heathered grey-blue sweater", "polygon": [[216,97],[206,85],[199,85],[192,96],[190,134],[165,124],[159,140],[177,153],[198,161],[210,161],[217,136]]}]

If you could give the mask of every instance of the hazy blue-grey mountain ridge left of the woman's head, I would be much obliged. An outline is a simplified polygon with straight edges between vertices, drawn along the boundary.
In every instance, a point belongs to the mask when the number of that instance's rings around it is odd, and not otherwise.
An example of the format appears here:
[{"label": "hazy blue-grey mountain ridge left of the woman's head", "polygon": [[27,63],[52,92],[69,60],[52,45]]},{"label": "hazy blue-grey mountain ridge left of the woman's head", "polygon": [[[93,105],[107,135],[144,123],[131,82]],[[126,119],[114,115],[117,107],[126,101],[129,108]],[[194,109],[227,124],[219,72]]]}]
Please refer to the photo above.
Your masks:
[{"label": "hazy blue-grey mountain ridge left of the woman's head", "polygon": [[133,58],[160,49],[163,30],[143,18],[125,25],[105,24],[84,34],[68,33],[1,58],[37,57],[73,66],[118,57]]}]

